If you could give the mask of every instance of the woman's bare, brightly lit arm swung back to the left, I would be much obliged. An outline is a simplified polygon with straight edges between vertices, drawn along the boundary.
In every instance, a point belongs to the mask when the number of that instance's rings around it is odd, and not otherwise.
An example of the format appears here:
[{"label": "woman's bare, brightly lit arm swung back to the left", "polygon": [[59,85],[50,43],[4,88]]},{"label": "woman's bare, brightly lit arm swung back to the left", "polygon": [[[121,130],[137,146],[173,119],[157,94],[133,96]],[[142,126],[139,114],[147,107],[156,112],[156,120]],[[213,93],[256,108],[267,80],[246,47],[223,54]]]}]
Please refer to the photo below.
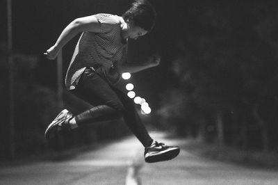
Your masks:
[{"label": "woman's bare, brightly lit arm swung back to the left", "polygon": [[100,24],[94,15],[74,19],[60,34],[56,43],[47,49],[47,58],[54,60],[63,46],[67,44],[75,35],[82,31],[100,32]]}]

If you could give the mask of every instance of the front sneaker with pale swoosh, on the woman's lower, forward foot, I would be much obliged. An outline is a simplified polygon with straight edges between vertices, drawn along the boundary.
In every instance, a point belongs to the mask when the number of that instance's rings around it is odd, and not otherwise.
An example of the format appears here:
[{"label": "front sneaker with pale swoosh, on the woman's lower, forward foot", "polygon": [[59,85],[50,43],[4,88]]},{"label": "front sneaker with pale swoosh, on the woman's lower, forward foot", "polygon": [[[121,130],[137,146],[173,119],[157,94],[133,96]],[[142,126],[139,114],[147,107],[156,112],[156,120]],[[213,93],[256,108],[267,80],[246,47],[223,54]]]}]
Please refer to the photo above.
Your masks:
[{"label": "front sneaker with pale swoosh, on the woman's lower, forward foot", "polygon": [[145,147],[145,161],[147,163],[168,161],[176,157],[179,151],[179,147],[167,146],[155,141],[150,147]]}]

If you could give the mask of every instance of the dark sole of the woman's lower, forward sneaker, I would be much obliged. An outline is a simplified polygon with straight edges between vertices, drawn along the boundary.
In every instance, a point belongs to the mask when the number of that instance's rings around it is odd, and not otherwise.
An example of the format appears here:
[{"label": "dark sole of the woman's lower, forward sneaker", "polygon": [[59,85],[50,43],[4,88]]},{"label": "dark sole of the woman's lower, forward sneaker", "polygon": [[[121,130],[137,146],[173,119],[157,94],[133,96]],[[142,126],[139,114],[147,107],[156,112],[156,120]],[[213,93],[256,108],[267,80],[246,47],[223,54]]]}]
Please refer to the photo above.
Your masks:
[{"label": "dark sole of the woman's lower, forward sneaker", "polygon": [[176,156],[178,156],[179,152],[180,152],[180,149],[177,147],[173,150],[164,152],[162,154],[147,156],[145,158],[145,161],[147,163],[156,163],[156,162],[160,162],[160,161],[169,161],[171,159],[174,159]]}]

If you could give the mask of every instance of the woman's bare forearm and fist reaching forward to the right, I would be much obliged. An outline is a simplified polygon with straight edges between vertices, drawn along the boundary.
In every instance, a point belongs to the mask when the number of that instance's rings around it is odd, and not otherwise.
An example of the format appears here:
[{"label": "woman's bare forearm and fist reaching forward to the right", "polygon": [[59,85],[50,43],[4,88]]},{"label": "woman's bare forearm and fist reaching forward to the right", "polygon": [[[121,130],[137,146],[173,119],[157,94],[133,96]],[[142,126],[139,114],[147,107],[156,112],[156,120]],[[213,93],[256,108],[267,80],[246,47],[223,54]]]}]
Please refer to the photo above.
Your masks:
[{"label": "woman's bare forearm and fist reaching forward to the right", "polygon": [[143,63],[123,63],[119,66],[117,66],[117,70],[121,73],[123,72],[139,72],[142,70],[146,70],[149,67],[155,67],[159,65],[161,62],[161,56],[158,54],[153,54],[149,58],[147,58],[147,61]]}]

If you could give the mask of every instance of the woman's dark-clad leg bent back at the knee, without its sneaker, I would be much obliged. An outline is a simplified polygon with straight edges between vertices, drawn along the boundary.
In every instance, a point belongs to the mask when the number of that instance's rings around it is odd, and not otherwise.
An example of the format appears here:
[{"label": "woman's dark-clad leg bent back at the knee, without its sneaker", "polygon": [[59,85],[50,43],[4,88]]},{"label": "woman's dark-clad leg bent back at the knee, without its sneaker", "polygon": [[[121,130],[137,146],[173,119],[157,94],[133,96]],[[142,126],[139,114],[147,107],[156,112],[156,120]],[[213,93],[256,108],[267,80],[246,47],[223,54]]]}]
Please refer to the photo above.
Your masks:
[{"label": "woman's dark-clad leg bent back at the knee, without its sneaker", "polygon": [[74,95],[94,106],[76,115],[74,119],[81,126],[91,122],[113,120],[122,117],[124,106],[111,87],[99,74],[87,68],[79,81]]}]

